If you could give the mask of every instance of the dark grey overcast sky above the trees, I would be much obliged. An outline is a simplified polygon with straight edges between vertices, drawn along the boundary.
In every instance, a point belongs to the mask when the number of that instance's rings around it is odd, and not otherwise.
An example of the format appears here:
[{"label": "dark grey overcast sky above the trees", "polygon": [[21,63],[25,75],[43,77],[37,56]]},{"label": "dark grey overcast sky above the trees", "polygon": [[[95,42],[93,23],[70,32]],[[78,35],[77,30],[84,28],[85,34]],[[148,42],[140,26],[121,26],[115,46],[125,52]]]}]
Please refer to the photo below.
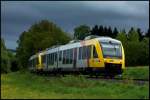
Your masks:
[{"label": "dark grey overcast sky above the trees", "polygon": [[23,31],[42,19],[48,19],[73,34],[81,24],[149,28],[148,1],[2,1],[1,37],[7,48],[16,49]]}]

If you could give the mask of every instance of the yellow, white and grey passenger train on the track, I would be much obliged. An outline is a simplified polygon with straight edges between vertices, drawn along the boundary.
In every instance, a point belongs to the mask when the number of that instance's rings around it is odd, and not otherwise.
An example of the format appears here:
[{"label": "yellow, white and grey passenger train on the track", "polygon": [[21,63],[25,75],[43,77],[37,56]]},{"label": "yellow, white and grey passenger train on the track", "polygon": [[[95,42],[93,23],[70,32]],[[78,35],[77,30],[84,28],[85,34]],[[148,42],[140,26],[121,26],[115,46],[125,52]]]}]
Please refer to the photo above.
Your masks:
[{"label": "yellow, white and grey passenger train on the track", "polygon": [[87,36],[32,55],[29,70],[37,73],[82,73],[114,77],[125,69],[121,41],[111,37]]}]

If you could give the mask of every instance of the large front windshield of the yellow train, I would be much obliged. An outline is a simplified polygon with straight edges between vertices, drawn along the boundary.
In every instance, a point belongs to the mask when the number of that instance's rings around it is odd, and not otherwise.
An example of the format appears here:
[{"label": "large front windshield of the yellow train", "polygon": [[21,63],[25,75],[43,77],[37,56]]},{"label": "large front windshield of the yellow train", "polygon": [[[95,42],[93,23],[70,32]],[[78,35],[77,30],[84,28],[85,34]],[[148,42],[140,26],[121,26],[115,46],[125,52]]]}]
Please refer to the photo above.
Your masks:
[{"label": "large front windshield of the yellow train", "polygon": [[102,42],[101,46],[104,58],[122,58],[121,44]]}]

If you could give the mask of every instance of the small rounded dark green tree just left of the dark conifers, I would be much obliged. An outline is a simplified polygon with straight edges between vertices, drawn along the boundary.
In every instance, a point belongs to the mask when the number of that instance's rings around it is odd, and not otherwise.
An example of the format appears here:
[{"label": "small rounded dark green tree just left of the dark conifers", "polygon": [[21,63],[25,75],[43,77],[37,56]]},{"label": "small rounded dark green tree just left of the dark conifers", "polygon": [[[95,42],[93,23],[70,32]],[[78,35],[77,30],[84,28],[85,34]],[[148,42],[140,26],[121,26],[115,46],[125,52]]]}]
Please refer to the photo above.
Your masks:
[{"label": "small rounded dark green tree just left of the dark conifers", "polygon": [[90,27],[87,25],[80,25],[74,29],[75,39],[83,40],[88,35],[90,35]]}]

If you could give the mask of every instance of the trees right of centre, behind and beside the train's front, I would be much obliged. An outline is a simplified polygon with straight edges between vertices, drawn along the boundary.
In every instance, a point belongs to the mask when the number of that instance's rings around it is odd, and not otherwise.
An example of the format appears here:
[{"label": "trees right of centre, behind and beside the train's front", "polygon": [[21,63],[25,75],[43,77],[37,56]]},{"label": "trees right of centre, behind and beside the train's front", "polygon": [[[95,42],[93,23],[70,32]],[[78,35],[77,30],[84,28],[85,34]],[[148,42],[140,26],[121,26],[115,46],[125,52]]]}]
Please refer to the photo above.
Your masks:
[{"label": "trees right of centre, behind and beside the train's front", "polygon": [[74,29],[74,38],[83,40],[88,35],[108,36],[122,42],[125,49],[126,66],[149,65],[149,29],[143,33],[140,28],[131,27],[118,31],[115,27],[95,25],[90,29],[87,25],[80,25]]}]

